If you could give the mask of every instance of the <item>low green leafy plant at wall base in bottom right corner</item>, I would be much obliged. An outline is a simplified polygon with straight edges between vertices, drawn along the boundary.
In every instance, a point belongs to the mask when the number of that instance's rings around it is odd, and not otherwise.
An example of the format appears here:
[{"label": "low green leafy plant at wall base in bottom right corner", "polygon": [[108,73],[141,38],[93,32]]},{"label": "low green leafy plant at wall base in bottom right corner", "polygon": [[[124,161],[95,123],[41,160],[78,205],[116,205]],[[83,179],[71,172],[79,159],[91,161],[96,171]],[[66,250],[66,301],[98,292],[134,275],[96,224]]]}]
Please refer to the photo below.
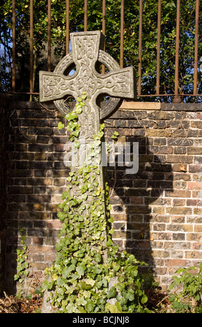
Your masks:
[{"label": "low green leafy plant at wall base in bottom right corner", "polygon": [[180,276],[173,276],[169,290],[173,287],[181,288],[178,294],[171,294],[169,301],[176,312],[182,313],[202,313],[201,294],[202,294],[202,262],[199,267],[180,268],[176,273]]}]

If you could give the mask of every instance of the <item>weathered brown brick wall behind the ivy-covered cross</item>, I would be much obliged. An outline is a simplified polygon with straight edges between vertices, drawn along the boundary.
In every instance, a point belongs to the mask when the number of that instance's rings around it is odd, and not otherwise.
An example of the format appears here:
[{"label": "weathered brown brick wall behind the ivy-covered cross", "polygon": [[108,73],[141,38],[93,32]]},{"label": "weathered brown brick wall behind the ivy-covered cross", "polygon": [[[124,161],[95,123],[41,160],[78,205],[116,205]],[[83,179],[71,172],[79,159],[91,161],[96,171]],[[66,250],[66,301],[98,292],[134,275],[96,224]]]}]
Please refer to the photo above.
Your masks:
[{"label": "weathered brown brick wall behind the ivy-covered cross", "polygon": [[[160,111],[119,109],[106,120],[106,139],[139,142],[139,171],[108,167],[114,239],[148,262],[166,289],[180,266],[201,260],[202,113],[199,105],[162,105]],[[191,110],[191,111],[190,111]],[[65,190],[65,131],[56,109],[37,102],[10,104],[6,284],[13,289],[17,233],[24,228],[30,273],[55,257],[61,226],[57,204]],[[28,281],[29,283],[29,281]]]}]

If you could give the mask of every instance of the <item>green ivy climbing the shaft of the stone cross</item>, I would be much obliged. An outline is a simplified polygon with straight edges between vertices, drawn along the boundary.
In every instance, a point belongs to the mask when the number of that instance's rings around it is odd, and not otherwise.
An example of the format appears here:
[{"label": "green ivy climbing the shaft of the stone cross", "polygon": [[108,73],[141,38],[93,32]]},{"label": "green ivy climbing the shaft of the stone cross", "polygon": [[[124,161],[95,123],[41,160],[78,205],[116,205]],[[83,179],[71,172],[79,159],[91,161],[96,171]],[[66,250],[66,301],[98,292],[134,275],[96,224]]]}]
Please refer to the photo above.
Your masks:
[{"label": "green ivy climbing the shaft of the stone cross", "polygon": [[[65,116],[70,139],[76,140],[73,131],[79,130],[78,115],[84,106],[86,93],[82,93],[75,111]],[[94,136],[89,157],[99,159],[100,140],[104,124]],[[88,159],[87,159],[88,162]],[[91,161],[90,161],[91,162]],[[111,239],[114,229],[110,216],[109,186],[99,186],[100,161],[71,171],[68,188],[62,195],[58,213],[62,221],[59,242],[56,244],[56,261],[47,269],[44,290],[49,290],[49,301],[58,312],[148,312],[148,298],[142,289],[143,277],[134,255],[121,252]],[[73,196],[72,189],[80,195]],[[107,220],[105,218],[107,216]],[[114,285],[109,287],[111,279]],[[116,303],[110,303],[115,298]]]}]

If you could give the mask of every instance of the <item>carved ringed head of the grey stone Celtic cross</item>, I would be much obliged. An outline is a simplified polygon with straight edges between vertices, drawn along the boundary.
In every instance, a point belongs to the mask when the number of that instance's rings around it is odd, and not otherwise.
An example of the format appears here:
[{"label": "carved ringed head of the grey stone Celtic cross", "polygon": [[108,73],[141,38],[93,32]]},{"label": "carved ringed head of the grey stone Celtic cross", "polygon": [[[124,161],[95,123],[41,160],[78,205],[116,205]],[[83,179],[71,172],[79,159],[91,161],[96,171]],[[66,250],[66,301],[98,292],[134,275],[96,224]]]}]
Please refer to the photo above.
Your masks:
[{"label": "carved ringed head of the grey stone Celtic cross", "polygon": [[[104,49],[104,35],[100,31],[70,33],[72,52],[65,56],[54,72],[40,72],[40,102],[54,101],[64,115],[70,112],[65,104],[67,96],[77,101],[82,92],[88,95],[86,106],[99,109],[100,120],[116,111],[123,99],[134,99],[135,75],[133,67],[122,68]],[[107,67],[106,74],[98,72],[98,64]],[[76,71],[68,74],[72,67]],[[104,95],[109,96],[102,103]]]}]

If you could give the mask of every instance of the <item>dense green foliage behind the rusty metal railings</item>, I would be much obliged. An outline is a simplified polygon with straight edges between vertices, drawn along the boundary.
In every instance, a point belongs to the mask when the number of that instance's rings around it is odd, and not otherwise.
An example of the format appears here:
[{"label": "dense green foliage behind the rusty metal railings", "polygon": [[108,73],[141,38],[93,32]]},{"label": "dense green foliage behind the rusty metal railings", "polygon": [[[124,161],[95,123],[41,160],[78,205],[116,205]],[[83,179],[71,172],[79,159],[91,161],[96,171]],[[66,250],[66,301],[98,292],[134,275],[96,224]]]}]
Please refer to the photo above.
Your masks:
[{"label": "dense green foliage behind the rusty metal railings", "polygon": [[[179,49],[179,83],[180,93],[191,93],[194,79],[194,35],[195,35],[195,0],[180,1],[180,49]],[[202,3],[200,1],[199,13]],[[38,71],[45,69],[47,55],[47,1],[33,0],[33,54],[35,90],[38,91]],[[9,67],[11,62],[12,1],[1,1],[0,42],[8,51]],[[124,66],[133,65],[138,72],[139,49],[139,1],[127,0],[124,8]],[[143,1],[142,26],[142,83],[141,93],[155,94],[157,67],[157,10],[158,1]],[[174,93],[175,54],[176,54],[176,1],[162,0],[160,43],[160,93]],[[65,55],[65,0],[52,1],[52,65],[55,67]],[[120,61],[120,26],[121,0],[108,0],[106,6],[106,51],[116,61]],[[199,17],[199,58],[202,51],[201,15]],[[102,30],[102,1],[88,1],[88,31]],[[16,1],[16,63],[20,71],[17,88],[29,87],[29,0]],[[84,1],[70,1],[70,32],[84,31]],[[4,71],[2,56],[2,72]],[[5,70],[8,74],[8,69]],[[3,75],[2,75],[3,77]],[[198,81],[201,71],[198,70]],[[5,87],[2,79],[2,90]],[[198,85],[201,94],[201,83]],[[148,100],[143,98],[143,100]],[[187,101],[192,101],[187,99]],[[200,98],[198,99],[200,101]]]}]

